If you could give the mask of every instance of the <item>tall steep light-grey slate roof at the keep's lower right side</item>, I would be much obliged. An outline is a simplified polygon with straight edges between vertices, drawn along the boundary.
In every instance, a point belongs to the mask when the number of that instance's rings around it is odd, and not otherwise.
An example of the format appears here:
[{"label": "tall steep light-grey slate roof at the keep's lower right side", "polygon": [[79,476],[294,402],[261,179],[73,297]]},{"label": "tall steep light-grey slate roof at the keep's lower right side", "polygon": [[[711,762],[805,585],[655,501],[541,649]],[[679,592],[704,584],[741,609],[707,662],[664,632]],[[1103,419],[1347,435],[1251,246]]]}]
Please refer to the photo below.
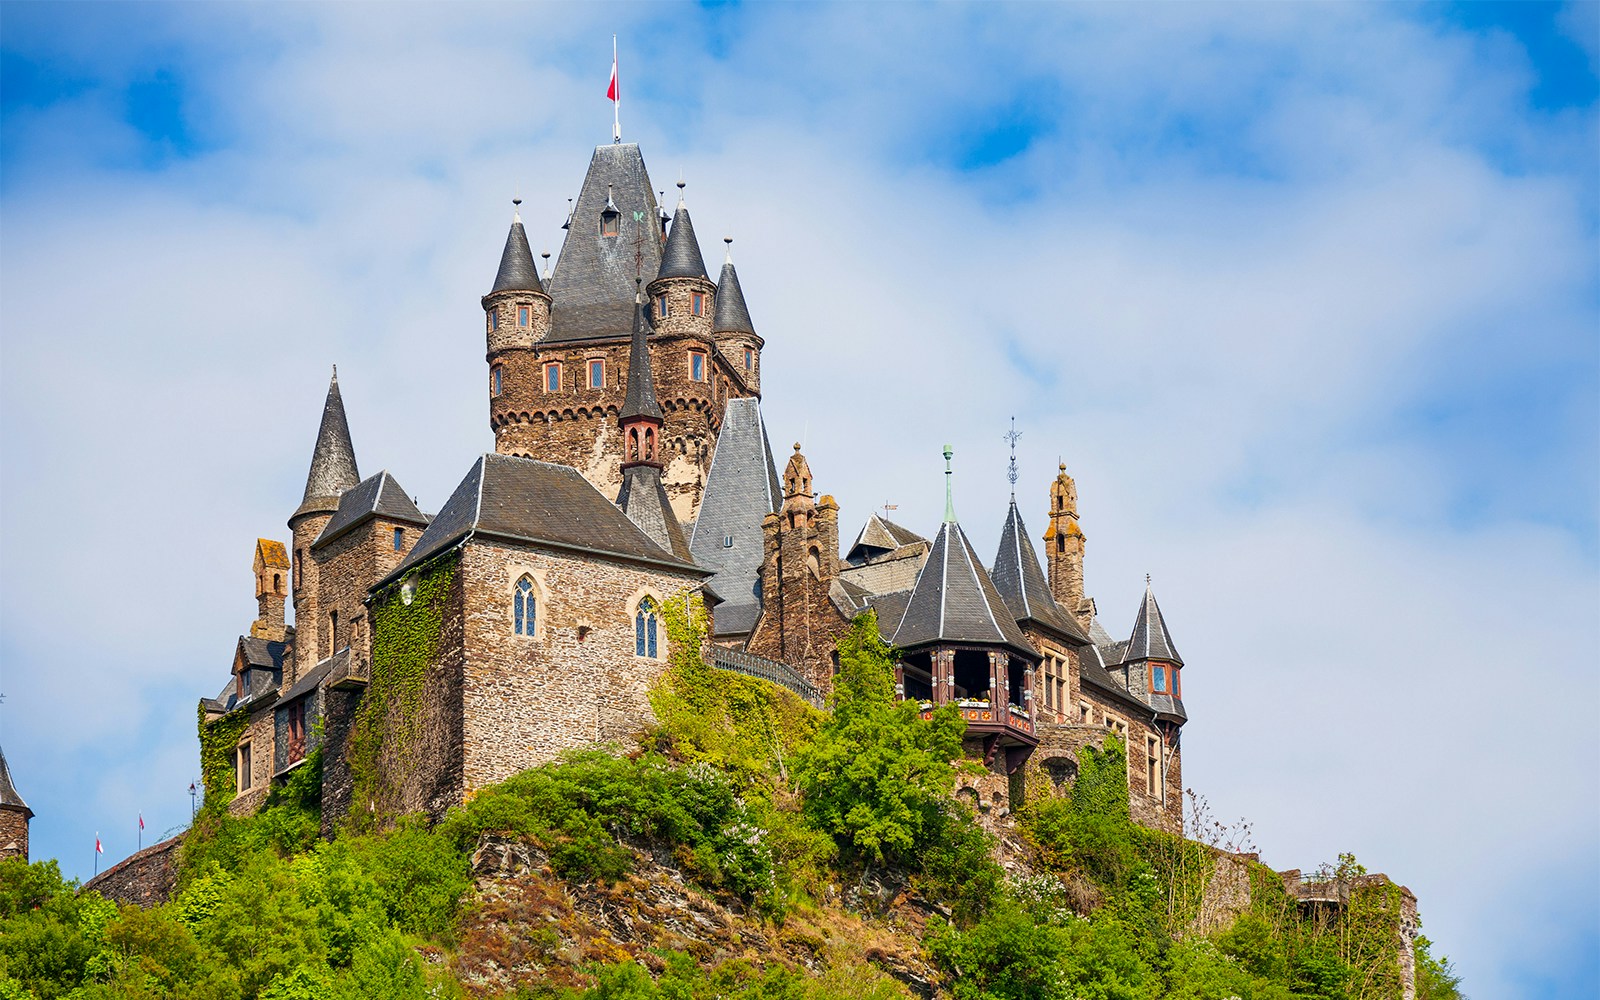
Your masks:
[{"label": "tall steep light-grey slate roof at the keep's lower right side", "polygon": [[[755,627],[762,611],[762,518],[774,514],[781,502],[782,488],[760,400],[728,400],[690,536],[694,562],[717,573],[710,587],[725,602],[715,614],[718,635]],[[733,544],[725,544],[730,539]]]}]

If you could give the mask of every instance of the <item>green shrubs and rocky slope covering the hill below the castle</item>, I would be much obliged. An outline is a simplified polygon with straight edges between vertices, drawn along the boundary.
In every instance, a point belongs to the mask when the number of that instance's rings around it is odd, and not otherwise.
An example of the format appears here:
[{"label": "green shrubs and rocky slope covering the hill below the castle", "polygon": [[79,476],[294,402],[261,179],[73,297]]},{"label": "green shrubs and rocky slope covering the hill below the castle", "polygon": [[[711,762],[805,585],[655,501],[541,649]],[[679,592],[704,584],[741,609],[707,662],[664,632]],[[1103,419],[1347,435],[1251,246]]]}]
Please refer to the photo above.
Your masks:
[{"label": "green shrubs and rocky slope covering the hill below the castle", "polygon": [[[822,714],[710,670],[698,608],[672,603],[659,723],[632,754],[331,842],[314,758],[250,819],[205,808],[150,910],[0,862],[0,1000],[1398,997],[1389,891],[1306,915],[1253,866],[1250,910],[1192,933],[1216,853],[1130,822],[1115,739],[1022,810],[1008,874],[950,795],[963,723],[894,701],[870,618]],[[1418,997],[1459,995],[1419,941]]]}]

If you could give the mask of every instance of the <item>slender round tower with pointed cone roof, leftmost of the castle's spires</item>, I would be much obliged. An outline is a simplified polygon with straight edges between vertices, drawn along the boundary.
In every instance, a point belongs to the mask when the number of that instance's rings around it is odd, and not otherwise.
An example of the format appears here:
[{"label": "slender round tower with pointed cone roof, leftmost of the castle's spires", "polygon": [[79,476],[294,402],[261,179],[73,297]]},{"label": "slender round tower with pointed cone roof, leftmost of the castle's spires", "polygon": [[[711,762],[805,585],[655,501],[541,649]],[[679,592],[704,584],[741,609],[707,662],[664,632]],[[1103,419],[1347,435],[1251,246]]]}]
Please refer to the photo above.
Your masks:
[{"label": "slender round tower with pointed cone roof, leftmost of the castle's spires", "polygon": [[339,395],[339,370],[333,370],[328,382],[328,398],[322,406],[322,426],[317,429],[317,446],[310,454],[310,472],[306,475],[306,498],[290,517],[294,533],[294,664],[299,677],[317,664],[320,640],[317,562],[310,555],[312,542],[322,534],[328,520],[339,509],[339,496],[362,482],[355,467],[355,446],[350,443],[350,424],[344,418],[344,398]]}]

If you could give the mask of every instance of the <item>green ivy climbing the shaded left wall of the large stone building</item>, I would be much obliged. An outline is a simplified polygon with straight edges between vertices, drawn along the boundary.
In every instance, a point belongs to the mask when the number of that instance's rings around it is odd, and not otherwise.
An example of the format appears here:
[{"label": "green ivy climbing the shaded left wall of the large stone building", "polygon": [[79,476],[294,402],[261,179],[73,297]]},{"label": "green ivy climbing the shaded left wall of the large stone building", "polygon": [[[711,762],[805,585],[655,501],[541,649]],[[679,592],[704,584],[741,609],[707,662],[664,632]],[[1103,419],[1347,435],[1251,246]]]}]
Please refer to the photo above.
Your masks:
[{"label": "green ivy climbing the shaded left wall of the large stone building", "polygon": [[355,822],[370,821],[381,803],[392,800],[400,784],[394,768],[413,762],[422,686],[438,656],[458,566],[459,555],[450,555],[373,597],[371,675],[346,754]]}]

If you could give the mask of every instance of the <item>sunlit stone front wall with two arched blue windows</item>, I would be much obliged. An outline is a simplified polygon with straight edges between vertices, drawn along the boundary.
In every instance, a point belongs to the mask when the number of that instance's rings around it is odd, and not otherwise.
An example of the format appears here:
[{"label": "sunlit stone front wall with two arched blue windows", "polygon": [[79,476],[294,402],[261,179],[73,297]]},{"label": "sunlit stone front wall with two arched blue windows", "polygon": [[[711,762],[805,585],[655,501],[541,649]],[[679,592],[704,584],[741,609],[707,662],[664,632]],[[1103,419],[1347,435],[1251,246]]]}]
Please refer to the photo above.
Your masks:
[{"label": "sunlit stone front wall with two arched blue windows", "polygon": [[[512,632],[512,589],[534,581],[534,635]],[[562,750],[626,742],[650,715],[646,690],[666,670],[634,654],[634,613],[694,587],[698,576],[637,563],[478,542],[466,549],[462,782],[502,781]]]}]

